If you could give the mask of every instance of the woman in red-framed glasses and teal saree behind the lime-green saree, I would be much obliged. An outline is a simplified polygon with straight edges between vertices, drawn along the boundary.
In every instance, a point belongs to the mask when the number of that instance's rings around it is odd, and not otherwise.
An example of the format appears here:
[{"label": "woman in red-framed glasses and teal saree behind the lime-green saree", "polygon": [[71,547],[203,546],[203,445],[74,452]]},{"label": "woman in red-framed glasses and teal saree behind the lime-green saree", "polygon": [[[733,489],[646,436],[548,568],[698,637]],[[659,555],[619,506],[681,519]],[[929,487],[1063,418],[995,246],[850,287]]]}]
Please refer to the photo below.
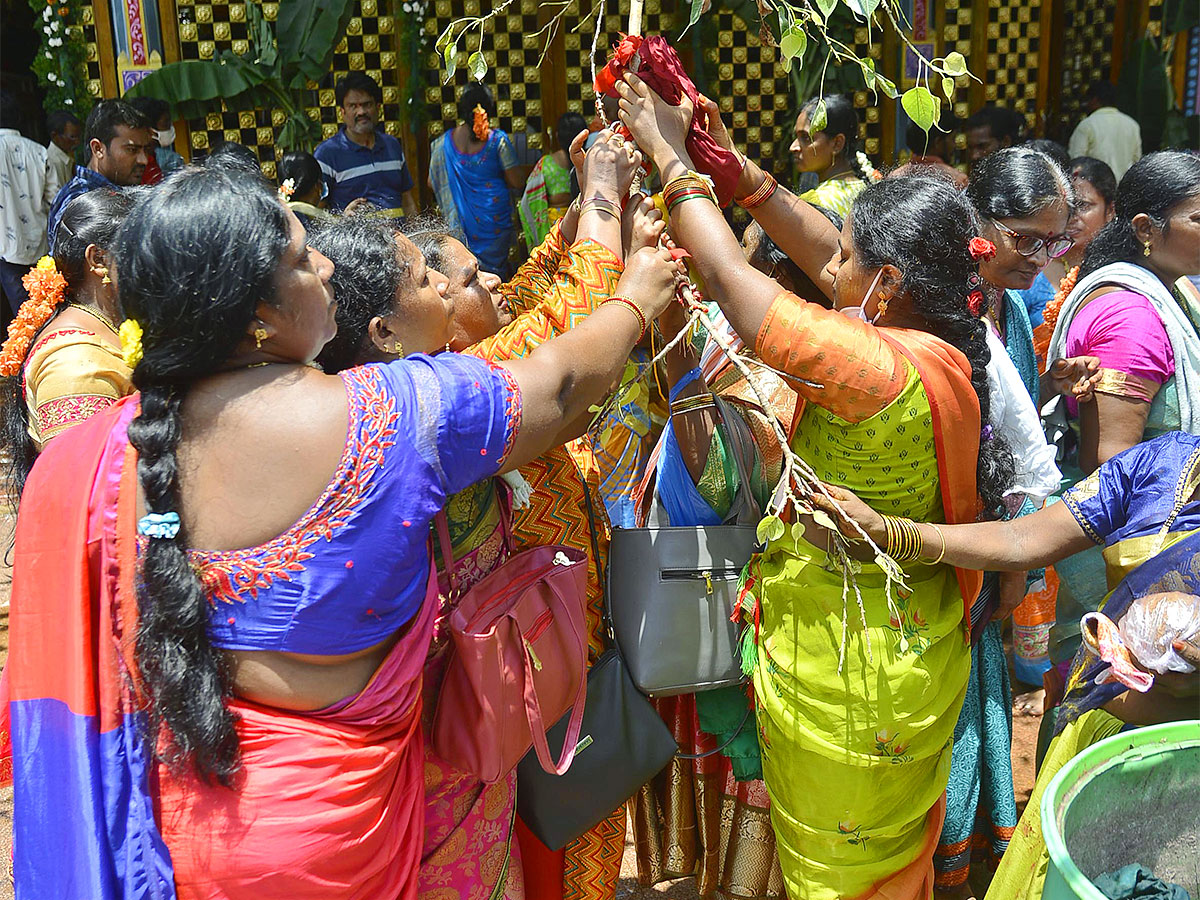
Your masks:
[{"label": "woman in red-framed glasses and teal saree behind the lime-green saree", "polygon": [[[1016,418],[1026,425],[1024,446],[1030,451],[1016,454],[1018,464],[1022,472],[1042,472],[1043,464],[1049,469],[1048,475],[1026,479],[1020,493],[1006,497],[1006,517],[1028,515],[1057,487],[1058,473],[1052,450],[1038,430],[1037,413],[1030,408],[1040,406],[1043,379],[1033,354],[1028,312],[1018,292],[1027,290],[1051,259],[1070,248],[1066,230],[1074,191],[1067,173],[1049,155],[1021,146],[998,150],[976,163],[966,192],[979,214],[980,235],[995,245],[980,246],[976,253],[982,278],[976,298],[977,302],[983,300],[980,312],[989,323],[994,355],[998,356],[1001,348],[1007,350],[1019,376],[1000,384],[1004,406],[1024,408],[1024,415]],[[1050,378],[1045,382],[1049,391]],[[971,608],[976,638],[971,679],[954,727],[946,822],[934,854],[937,898],[970,896],[976,848],[985,847],[995,866],[1016,827],[1013,695],[1001,628],[1024,599],[1026,580],[1022,571],[986,572]]]}]

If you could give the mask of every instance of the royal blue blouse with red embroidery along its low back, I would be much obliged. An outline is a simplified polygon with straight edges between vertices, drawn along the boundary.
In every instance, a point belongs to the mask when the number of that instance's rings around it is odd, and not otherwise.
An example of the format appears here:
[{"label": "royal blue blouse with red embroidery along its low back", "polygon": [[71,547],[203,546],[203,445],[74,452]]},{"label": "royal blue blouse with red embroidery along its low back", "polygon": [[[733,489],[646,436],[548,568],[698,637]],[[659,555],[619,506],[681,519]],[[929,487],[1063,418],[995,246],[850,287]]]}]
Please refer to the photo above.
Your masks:
[{"label": "royal blue blouse with red embroidery along its low back", "polygon": [[425,599],[434,515],[512,449],[521,396],[503,368],[446,353],[340,377],[349,426],[320,498],[266,544],[191,554],[217,647],[334,655],[392,635]]}]

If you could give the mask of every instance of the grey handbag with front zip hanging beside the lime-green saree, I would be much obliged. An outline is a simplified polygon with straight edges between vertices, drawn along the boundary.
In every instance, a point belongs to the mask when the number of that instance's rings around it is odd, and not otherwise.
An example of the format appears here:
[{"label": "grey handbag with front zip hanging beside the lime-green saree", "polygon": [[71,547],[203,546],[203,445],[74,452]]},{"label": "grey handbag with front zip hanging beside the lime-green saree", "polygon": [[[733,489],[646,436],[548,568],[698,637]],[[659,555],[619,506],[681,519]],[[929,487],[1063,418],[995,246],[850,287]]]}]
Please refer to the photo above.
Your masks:
[{"label": "grey handbag with front zip hanging beside the lime-green saree", "polygon": [[731,619],[760,517],[750,490],[749,428],[714,396],[740,485],[725,524],[614,528],[608,604],[617,646],[638,690],[654,697],[742,684],[742,624]]}]

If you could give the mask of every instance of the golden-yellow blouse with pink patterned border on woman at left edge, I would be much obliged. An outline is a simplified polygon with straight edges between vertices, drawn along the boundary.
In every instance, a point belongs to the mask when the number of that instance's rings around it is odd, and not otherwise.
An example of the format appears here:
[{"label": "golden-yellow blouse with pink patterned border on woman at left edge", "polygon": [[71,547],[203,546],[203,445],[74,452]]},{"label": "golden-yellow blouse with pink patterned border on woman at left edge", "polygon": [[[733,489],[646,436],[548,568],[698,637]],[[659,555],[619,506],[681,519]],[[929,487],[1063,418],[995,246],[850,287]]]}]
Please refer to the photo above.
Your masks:
[{"label": "golden-yellow blouse with pink patterned border on woman at left edge", "polygon": [[29,436],[38,451],[133,390],[121,352],[80,328],[52,324],[25,359]]}]

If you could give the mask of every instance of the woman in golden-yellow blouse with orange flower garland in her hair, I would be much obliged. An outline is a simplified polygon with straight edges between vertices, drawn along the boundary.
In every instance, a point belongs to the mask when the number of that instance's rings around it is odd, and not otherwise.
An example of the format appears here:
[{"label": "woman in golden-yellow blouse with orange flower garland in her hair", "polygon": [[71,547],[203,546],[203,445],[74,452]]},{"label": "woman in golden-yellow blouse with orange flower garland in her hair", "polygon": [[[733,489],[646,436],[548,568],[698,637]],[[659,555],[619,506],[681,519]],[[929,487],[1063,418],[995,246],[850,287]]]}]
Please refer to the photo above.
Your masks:
[{"label": "woman in golden-yellow blouse with orange flower garland in her hair", "polygon": [[107,190],[73,199],[59,222],[54,258],[43,257],[25,276],[29,300],[0,350],[2,396],[11,401],[0,439],[14,502],[47,443],[133,390],[108,260],[131,205],[127,193]]}]

